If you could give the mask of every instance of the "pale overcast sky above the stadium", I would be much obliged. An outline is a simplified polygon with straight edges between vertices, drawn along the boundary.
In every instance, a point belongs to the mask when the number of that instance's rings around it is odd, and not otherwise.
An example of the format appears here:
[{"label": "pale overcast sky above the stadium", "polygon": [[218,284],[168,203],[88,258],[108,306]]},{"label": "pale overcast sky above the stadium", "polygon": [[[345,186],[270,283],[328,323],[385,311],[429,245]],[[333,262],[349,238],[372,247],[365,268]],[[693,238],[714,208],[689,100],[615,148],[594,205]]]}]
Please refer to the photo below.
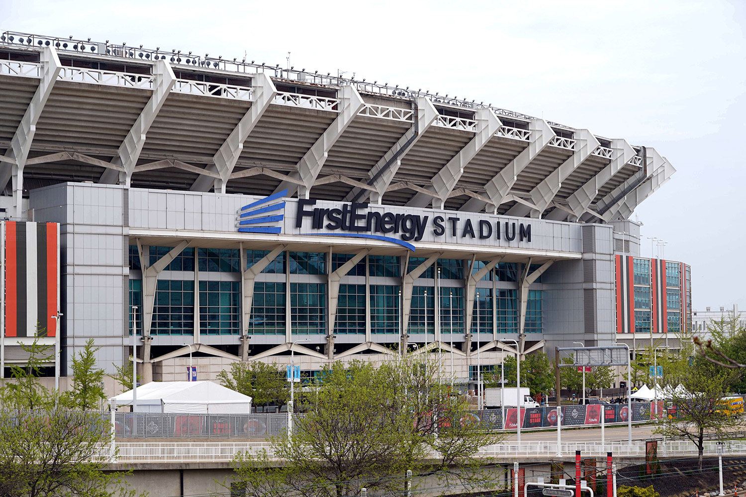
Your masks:
[{"label": "pale overcast sky above the stadium", "polygon": [[[113,3],[113,2],[111,2]],[[746,309],[744,1],[0,0],[0,29],[286,64],[430,89],[656,148],[636,209],[694,308]],[[642,256],[651,255],[643,238]]]}]

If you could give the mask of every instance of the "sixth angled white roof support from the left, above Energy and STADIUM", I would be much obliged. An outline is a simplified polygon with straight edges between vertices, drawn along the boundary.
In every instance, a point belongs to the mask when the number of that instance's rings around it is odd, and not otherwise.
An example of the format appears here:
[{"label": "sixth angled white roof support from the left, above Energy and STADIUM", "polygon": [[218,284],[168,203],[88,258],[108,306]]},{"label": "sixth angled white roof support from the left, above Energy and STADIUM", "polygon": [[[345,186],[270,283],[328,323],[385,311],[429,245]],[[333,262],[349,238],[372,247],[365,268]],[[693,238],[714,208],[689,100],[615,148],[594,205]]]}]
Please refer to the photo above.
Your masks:
[{"label": "sixth angled white roof support from the left, above Energy and STADIUM", "polygon": [[480,150],[487,145],[492,136],[498,132],[502,123],[498,116],[495,115],[495,111],[492,109],[479,109],[474,114],[474,118],[477,121],[477,133],[474,134],[474,138],[457,153],[453,159],[449,160],[444,165],[438,174],[436,174],[431,180],[433,186],[428,188],[433,191],[433,194],[428,195],[422,192],[417,193],[412,200],[407,202],[407,206],[410,207],[426,207],[431,200],[437,199],[439,205],[436,206],[438,209],[445,208],[445,200],[448,199],[448,195],[456,187],[457,183],[461,179],[461,175],[464,172],[466,165],[474,159],[474,156],[479,153]]}]

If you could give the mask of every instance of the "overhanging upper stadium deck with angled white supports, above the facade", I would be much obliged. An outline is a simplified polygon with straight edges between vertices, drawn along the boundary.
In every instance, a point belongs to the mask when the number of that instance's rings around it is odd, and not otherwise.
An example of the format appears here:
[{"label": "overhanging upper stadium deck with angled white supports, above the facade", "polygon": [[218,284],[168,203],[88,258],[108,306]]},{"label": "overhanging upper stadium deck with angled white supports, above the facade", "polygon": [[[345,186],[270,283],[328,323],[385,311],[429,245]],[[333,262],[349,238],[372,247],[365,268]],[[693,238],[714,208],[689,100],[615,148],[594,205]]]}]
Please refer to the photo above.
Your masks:
[{"label": "overhanging upper stadium deck with angled white supports, above the facade", "polygon": [[0,34],[0,187],[120,183],[609,222],[653,148],[475,101],[192,52]]}]

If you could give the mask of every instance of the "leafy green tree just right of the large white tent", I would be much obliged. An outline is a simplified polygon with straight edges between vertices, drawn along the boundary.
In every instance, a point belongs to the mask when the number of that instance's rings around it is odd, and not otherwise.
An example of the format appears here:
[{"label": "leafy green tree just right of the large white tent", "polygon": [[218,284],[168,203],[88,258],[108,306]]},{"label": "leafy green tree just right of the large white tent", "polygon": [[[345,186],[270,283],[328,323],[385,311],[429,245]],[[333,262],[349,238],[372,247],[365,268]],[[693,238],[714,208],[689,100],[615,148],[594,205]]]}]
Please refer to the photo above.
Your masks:
[{"label": "leafy green tree just right of the large white tent", "polygon": [[218,373],[218,380],[224,387],[250,396],[254,405],[286,405],[290,399],[286,372],[276,364],[234,362],[231,370]]}]

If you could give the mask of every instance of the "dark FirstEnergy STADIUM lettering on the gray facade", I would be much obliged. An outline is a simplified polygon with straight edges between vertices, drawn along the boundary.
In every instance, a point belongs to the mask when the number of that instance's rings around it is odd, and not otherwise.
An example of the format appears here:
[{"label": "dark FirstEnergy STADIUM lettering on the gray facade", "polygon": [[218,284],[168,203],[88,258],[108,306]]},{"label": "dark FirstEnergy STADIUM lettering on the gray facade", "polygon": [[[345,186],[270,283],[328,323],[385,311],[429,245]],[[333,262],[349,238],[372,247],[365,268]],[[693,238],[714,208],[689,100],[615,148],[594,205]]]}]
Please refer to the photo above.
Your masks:
[{"label": "dark FirstEnergy STADIUM lettering on the gray facade", "polygon": [[[448,232],[451,237],[480,238],[513,241],[531,241],[531,224],[515,221],[472,221],[463,215],[418,215],[401,212],[369,210],[368,203],[343,203],[341,207],[315,207],[316,200],[298,199],[295,214],[295,227],[303,229],[310,224],[310,229],[328,229],[340,231],[345,236],[372,235],[363,238],[380,238],[394,241],[414,250],[412,244],[401,241],[421,241],[429,229],[435,237],[442,237]],[[305,223],[304,223],[305,221]],[[310,223],[309,223],[310,221]],[[381,235],[377,235],[381,233]],[[312,233],[313,234],[313,233]],[[324,233],[329,235],[330,233]],[[391,235],[398,235],[398,238]]]}]

